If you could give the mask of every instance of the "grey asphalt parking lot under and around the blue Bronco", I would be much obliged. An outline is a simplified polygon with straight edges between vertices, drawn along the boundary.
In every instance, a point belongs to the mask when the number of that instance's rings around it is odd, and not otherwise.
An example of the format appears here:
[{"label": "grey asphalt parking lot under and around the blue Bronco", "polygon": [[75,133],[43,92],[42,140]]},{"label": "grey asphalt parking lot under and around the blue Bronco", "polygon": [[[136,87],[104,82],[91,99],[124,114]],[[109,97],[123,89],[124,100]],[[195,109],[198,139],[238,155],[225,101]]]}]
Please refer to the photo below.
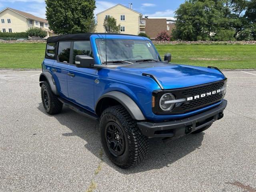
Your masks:
[{"label": "grey asphalt parking lot under and around the blue Bronco", "polygon": [[224,118],[200,134],[150,139],[144,162],[126,170],[102,153],[97,122],[44,112],[39,74],[0,70],[0,191],[256,192],[256,71],[225,71]]}]

